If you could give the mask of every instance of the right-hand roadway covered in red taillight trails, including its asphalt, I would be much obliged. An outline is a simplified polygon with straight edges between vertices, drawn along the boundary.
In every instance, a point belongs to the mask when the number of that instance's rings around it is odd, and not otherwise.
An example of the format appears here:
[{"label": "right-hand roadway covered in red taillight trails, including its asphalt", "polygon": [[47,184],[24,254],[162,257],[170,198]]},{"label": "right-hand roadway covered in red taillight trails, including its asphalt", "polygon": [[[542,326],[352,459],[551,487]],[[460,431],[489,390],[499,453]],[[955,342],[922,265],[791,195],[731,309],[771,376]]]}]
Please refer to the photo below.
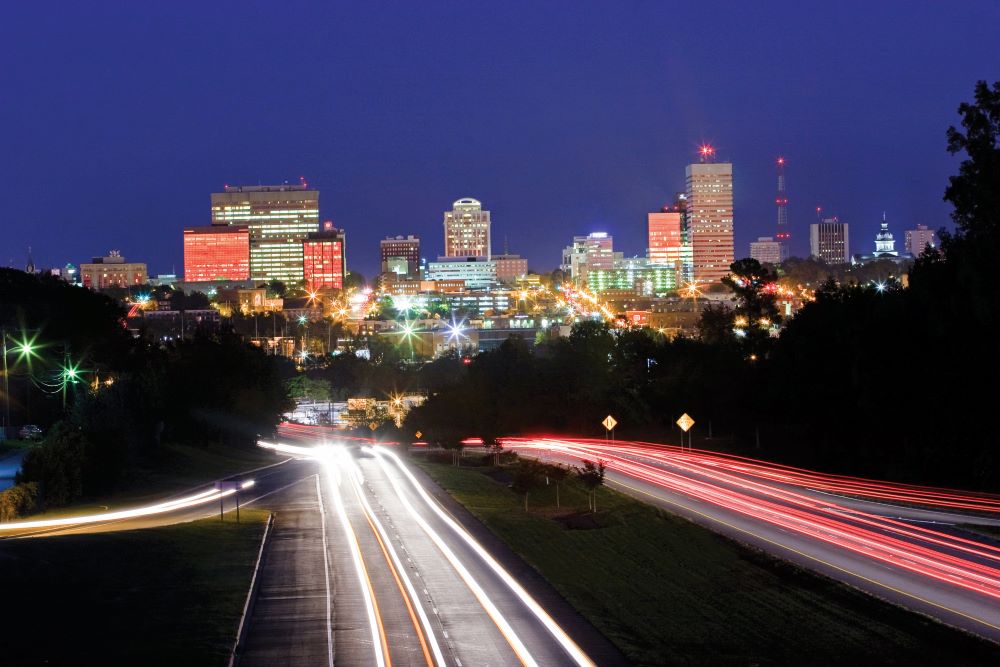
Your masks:
[{"label": "right-hand roadway covered in red taillight trails, including its asphalt", "polygon": [[1000,497],[823,475],[653,443],[507,438],[522,455],[605,462],[612,488],[880,598],[1000,641]]}]

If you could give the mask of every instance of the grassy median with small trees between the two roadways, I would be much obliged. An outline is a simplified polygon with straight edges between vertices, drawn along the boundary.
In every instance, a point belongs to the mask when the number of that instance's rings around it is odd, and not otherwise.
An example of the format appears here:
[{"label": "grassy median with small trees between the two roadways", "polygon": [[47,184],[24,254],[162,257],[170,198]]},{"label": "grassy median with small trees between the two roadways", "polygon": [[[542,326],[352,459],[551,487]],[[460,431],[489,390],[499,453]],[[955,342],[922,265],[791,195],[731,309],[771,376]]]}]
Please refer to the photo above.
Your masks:
[{"label": "grassy median with small trees between the two roadways", "polygon": [[562,511],[549,486],[525,513],[495,468],[421,465],[636,664],[1000,664],[993,644],[609,489],[593,517],[575,480]]}]

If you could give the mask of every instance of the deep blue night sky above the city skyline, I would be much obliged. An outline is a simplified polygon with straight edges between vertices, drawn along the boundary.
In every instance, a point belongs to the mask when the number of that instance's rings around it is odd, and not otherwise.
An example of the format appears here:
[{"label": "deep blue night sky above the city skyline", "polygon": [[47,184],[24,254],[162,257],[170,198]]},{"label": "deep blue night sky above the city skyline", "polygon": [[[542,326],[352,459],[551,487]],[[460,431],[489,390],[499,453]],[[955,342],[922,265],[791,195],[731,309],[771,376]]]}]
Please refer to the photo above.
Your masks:
[{"label": "deep blue night sky above the city skyline", "polygon": [[702,141],[734,163],[738,257],[778,155],[795,254],[817,205],[854,252],[883,210],[901,246],[949,222],[944,133],[1000,79],[998,26],[994,1],[8,3],[0,263],[181,273],[211,192],[300,176],[369,278],[385,235],[442,252],[467,196],[534,270],[591,231],[642,255]]}]

